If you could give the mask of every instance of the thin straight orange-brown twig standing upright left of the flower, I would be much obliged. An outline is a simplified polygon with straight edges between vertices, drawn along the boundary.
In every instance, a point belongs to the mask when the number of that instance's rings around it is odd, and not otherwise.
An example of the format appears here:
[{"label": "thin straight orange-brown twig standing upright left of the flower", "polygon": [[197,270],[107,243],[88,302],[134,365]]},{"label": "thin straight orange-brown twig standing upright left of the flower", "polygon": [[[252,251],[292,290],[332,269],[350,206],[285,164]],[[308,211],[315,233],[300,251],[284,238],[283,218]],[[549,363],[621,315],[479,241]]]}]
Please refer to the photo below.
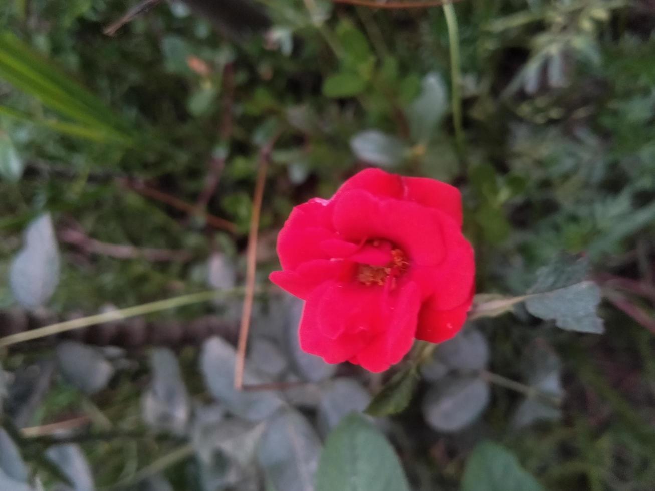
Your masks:
[{"label": "thin straight orange-brown twig standing upright left of the flower", "polygon": [[257,267],[257,231],[259,230],[259,214],[264,196],[266,173],[269,169],[272,147],[279,134],[272,137],[259,151],[259,169],[257,182],[252,200],[252,215],[250,216],[250,232],[248,233],[248,252],[246,254],[246,295],[241,311],[239,325],[239,339],[236,346],[236,360],[234,361],[234,387],[243,389],[244,365],[246,364],[246,347],[248,346],[248,331],[250,331],[250,316],[252,314],[252,301],[255,294],[255,270]]}]

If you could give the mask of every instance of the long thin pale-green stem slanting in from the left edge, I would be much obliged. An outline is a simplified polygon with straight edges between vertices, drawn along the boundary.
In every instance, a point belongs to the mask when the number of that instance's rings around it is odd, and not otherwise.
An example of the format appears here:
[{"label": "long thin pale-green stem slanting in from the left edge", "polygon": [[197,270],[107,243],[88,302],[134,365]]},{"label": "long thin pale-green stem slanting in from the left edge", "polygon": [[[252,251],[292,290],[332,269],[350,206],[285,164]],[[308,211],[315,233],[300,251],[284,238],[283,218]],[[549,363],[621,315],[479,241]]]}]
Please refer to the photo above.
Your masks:
[{"label": "long thin pale-green stem slanting in from the left edge", "polygon": [[82,327],[88,327],[90,325],[102,324],[103,322],[117,321],[135,316],[143,316],[144,314],[151,314],[152,312],[159,312],[160,310],[168,310],[169,308],[181,307],[183,305],[195,304],[198,302],[208,302],[219,296],[233,295],[242,292],[242,287],[219,291],[200,291],[199,293],[190,293],[189,295],[181,295],[181,297],[173,297],[172,299],[157,300],[147,304],[135,305],[132,307],[121,308],[119,310],[110,310],[109,312],[103,312],[102,314],[94,314],[93,316],[58,322],[56,324],[39,327],[39,329],[32,329],[31,331],[25,331],[24,333],[16,333],[0,338],[0,348],[18,342],[64,333],[65,331],[72,331],[73,329],[81,329]]}]

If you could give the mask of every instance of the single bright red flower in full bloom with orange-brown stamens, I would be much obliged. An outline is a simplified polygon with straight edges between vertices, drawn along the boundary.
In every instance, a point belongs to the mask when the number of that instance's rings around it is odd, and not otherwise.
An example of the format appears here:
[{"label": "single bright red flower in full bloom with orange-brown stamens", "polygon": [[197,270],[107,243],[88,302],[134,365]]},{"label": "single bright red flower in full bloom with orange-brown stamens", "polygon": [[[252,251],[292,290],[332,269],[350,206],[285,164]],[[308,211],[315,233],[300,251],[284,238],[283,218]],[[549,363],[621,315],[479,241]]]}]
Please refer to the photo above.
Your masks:
[{"label": "single bright red flower in full bloom with orange-brown stamens", "polygon": [[466,319],[474,258],[454,187],[364,170],[329,200],[296,206],[271,281],[306,300],[300,345],[327,363],[381,372],[414,338],[441,342]]}]

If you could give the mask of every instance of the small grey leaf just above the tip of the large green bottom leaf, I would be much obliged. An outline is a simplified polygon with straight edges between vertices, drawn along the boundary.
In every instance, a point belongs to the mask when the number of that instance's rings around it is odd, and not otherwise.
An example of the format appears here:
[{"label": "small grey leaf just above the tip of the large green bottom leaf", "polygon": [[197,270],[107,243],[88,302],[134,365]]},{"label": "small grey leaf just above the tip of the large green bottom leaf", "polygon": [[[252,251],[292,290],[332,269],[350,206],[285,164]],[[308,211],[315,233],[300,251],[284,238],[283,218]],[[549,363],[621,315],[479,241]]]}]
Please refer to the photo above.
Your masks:
[{"label": "small grey leaf just above the tip of the large green bottom leaf", "polygon": [[322,435],[337,426],[351,412],[362,412],[371,394],[352,378],[335,378],[323,384],[318,402],[318,428]]}]

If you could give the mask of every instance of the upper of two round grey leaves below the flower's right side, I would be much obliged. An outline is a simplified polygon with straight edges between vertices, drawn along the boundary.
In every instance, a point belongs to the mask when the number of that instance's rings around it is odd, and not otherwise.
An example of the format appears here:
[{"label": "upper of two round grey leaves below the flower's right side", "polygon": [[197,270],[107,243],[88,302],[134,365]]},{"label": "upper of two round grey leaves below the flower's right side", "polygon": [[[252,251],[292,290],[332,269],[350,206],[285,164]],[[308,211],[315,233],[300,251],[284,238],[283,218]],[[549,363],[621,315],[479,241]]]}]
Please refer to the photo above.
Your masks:
[{"label": "upper of two round grey leaves below the flower's right side", "polygon": [[481,370],[489,363],[489,343],[480,331],[467,327],[441,343],[436,354],[451,369]]}]

